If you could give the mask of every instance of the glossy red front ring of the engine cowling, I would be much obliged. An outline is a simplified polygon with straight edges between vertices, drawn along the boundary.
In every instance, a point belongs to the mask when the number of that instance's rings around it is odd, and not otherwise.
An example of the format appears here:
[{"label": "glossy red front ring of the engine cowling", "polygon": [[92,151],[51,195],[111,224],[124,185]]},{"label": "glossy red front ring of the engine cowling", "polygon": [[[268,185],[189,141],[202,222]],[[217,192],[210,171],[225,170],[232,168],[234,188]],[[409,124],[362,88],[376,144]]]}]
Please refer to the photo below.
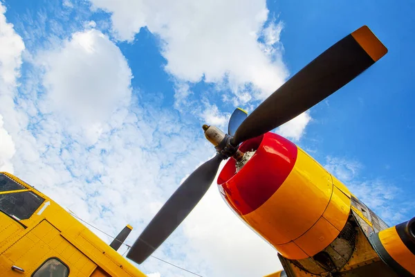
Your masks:
[{"label": "glossy red front ring of the engine cowling", "polygon": [[290,174],[297,159],[297,146],[277,134],[250,139],[239,148],[256,151],[236,174],[230,159],[218,177],[219,190],[239,215],[246,215],[264,204]]}]

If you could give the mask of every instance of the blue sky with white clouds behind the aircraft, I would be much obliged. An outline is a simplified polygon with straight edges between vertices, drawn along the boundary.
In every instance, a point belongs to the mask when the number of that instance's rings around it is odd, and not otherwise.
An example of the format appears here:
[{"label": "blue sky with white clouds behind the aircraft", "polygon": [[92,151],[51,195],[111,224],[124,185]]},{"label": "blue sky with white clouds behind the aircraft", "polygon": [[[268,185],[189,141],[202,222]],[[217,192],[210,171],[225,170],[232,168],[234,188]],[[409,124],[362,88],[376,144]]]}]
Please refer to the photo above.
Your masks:
[{"label": "blue sky with white clouds behind the aircraft", "polygon": [[[0,171],[131,244],[225,128],[367,24],[389,48],[275,130],[389,224],[415,214],[415,4],[403,1],[0,1]],[[95,231],[95,230],[92,230]],[[102,233],[97,233],[107,242]],[[124,253],[126,248],[121,248]],[[201,276],[264,276],[277,253],[216,186],[154,256]],[[150,276],[194,276],[155,258]]]}]

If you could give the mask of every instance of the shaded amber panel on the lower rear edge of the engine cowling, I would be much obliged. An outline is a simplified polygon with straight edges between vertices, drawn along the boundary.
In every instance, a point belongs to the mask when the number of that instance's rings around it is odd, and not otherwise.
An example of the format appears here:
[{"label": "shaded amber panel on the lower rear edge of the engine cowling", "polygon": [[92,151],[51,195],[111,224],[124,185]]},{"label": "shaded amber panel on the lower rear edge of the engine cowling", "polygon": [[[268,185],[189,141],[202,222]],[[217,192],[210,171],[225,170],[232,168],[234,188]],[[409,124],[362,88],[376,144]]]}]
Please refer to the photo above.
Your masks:
[{"label": "shaded amber panel on the lower rear edge of the engine cowling", "polygon": [[324,248],[328,247],[339,235],[340,231],[335,229],[324,217],[311,227],[304,235],[295,240],[297,244],[308,256],[314,256]]}]

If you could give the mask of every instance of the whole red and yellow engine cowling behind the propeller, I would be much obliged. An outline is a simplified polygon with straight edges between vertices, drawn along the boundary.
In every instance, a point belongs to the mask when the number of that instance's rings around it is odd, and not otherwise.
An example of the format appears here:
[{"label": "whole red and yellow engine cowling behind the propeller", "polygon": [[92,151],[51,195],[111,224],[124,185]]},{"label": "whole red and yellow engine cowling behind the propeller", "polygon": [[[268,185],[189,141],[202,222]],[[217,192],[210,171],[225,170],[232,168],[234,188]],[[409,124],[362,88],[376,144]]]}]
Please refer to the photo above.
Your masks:
[{"label": "whole red and yellow engine cowling behind the propeller", "polygon": [[[241,145],[255,155],[235,174],[234,161],[218,177],[221,195],[243,221],[289,259],[326,248],[350,212],[350,193],[294,143],[267,133]],[[335,186],[340,184],[340,186]]]}]

